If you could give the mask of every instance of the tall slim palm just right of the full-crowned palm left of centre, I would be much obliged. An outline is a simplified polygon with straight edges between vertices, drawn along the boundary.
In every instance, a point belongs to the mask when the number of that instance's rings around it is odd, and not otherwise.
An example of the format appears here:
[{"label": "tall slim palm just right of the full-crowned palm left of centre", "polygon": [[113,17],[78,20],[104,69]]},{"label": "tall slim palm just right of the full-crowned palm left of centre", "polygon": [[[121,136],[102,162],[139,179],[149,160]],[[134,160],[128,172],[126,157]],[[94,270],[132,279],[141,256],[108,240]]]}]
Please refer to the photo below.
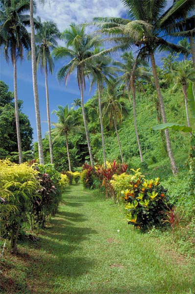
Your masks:
[{"label": "tall slim palm just right of the full-crowned palm left of centre", "polygon": [[[95,48],[94,54],[100,52],[99,48]],[[102,113],[101,113],[101,95],[103,89],[103,83],[109,83],[109,78],[112,79],[113,75],[116,75],[116,67],[111,66],[112,59],[106,56],[100,56],[96,62],[93,62],[89,67],[87,74],[92,77],[90,89],[93,84],[97,84],[98,91],[98,106],[99,106],[99,121],[101,129],[101,142],[102,142],[102,153],[103,153],[103,164],[106,168],[106,156],[105,156],[105,143],[103,135],[103,122],[102,122]]]}]

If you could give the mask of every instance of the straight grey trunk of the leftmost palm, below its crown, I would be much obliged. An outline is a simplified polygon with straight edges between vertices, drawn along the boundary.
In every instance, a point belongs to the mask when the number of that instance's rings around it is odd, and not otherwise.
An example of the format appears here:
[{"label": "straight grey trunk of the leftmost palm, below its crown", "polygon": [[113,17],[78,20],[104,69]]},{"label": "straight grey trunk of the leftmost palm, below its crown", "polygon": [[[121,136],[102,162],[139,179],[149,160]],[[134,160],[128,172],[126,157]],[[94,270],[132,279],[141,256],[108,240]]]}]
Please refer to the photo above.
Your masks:
[{"label": "straight grey trunk of the leftmost palm, below its crown", "polygon": [[14,67],[14,104],[15,104],[15,117],[16,117],[16,133],[18,142],[18,153],[19,153],[19,163],[23,163],[21,137],[20,137],[20,121],[19,121],[19,111],[18,111],[18,94],[17,94],[17,68],[16,68],[16,56],[13,57],[13,67]]}]

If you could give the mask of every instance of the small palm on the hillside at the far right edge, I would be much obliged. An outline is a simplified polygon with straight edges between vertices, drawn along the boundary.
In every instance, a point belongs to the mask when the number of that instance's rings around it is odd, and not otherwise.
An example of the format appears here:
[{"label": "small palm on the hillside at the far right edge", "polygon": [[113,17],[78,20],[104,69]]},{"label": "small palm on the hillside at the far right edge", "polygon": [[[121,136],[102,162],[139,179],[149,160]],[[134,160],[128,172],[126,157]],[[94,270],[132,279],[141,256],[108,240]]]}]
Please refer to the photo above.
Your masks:
[{"label": "small palm on the hillside at the far right edge", "polygon": [[179,62],[177,69],[174,71],[176,77],[176,84],[173,87],[175,89],[178,86],[182,87],[182,91],[185,99],[186,118],[188,126],[190,126],[189,115],[188,115],[188,96],[187,96],[187,85],[189,82],[195,82],[195,69],[192,67],[192,62],[182,61]]}]

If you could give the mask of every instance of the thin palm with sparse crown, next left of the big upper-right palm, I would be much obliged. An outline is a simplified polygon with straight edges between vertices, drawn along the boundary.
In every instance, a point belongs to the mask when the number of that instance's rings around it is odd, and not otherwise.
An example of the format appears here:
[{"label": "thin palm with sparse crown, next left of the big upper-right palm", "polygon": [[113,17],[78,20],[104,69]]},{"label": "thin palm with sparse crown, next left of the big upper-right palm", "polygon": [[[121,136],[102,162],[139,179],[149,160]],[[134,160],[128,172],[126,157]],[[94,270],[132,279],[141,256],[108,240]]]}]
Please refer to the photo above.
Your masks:
[{"label": "thin palm with sparse crown, next left of the big upper-right palm", "polygon": [[[125,84],[125,88],[127,88],[127,93],[128,93],[128,98],[129,98],[129,102],[131,103],[131,99],[130,99],[130,93],[129,93],[129,88],[131,88],[131,93],[133,96],[133,117],[134,117],[134,127],[135,127],[135,134],[136,134],[136,139],[137,139],[137,143],[138,143],[138,148],[139,148],[139,152],[140,152],[140,158],[141,161],[143,162],[143,155],[142,155],[142,149],[141,149],[141,145],[140,145],[140,140],[139,140],[139,135],[138,135],[138,130],[137,130],[137,123],[136,123],[136,87],[135,87],[135,81],[136,79],[139,78],[145,78],[148,79],[150,74],[148,71],[146,71],[146,69],[144,68],[148,66],[148,63],[141,58],[137,59],[137,66],[134,70],[134,73],[132,73],[133,71],[133,66],[135,64],[135,59],[133,56],[132,51],[125,52],[124,54],[122,54],[122,62],[116,61],[113,62],[114,65],[118,66],[121,71],[123,72],[122,76],[120,76],[120,80]],[[132,77],[133,74],[133,77]]]}]

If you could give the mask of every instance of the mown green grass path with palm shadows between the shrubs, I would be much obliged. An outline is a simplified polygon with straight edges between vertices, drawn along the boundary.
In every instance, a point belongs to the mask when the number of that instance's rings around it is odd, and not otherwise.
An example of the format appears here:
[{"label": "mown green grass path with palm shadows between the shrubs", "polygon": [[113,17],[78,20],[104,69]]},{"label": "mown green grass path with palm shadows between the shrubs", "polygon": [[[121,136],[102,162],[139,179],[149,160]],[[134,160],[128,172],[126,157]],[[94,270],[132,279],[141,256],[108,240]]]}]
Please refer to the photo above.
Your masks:
[{"label": "mown green grass path with palm shadows between the shrubs", "polygon": [[56,218],[5,252],[1,294],[192,294],[195,262],[128,226],[122,207],[74,185]]}]

